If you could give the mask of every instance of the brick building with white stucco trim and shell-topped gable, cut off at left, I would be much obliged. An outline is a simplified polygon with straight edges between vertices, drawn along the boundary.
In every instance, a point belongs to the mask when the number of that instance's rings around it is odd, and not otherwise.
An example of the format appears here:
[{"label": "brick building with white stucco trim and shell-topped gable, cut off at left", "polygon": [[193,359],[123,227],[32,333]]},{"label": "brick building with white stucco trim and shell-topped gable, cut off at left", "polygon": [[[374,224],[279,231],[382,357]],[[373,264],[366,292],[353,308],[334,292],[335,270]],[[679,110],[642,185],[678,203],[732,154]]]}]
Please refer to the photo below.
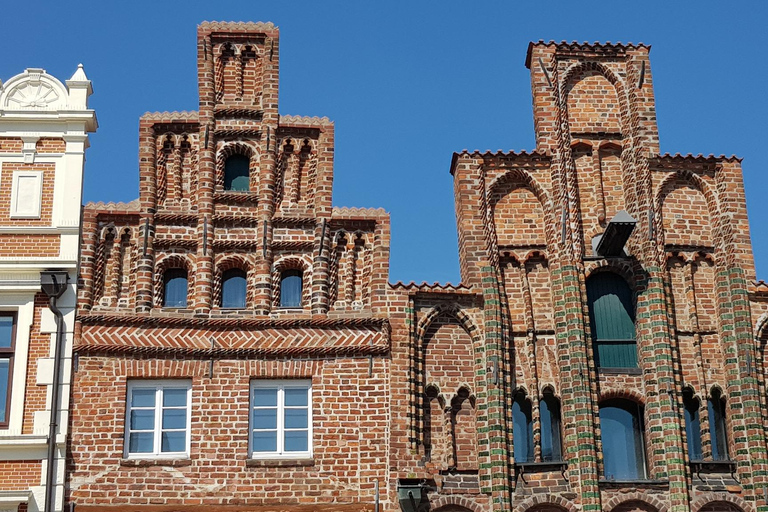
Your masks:
[{"label": "brick building with white stucco trim and shell-topped gable, cut off at left", "polygon": [[[37,68],[0,82],[3,511],[62,510],[83,163],[97,126],[90,94],[82,66],[66,85]],[[64,291],[53,304],[61,326],[41,289],[50,275]]]}]

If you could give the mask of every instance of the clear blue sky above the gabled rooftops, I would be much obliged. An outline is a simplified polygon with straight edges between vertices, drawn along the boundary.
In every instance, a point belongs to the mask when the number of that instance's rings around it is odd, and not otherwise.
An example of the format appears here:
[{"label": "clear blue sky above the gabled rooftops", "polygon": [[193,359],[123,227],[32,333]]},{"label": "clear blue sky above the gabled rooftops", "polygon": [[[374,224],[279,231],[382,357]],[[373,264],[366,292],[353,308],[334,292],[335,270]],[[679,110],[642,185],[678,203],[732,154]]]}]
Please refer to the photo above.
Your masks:
[{"label": "clear blue sky above the gabled rooftops", "polygon": [[142,113],[197,109],[198,23],[277,24],[280,113],[335,121],[334,205],[391,213],[392,281],[458,282],[451,155],[534,148],[529,41],[651,44],[662,152],[744,158],[768,280],[768,2],[10,4],[0,79],[27,67],[66,79],[82,62],[93,81],[85,201],[138,196]]}]

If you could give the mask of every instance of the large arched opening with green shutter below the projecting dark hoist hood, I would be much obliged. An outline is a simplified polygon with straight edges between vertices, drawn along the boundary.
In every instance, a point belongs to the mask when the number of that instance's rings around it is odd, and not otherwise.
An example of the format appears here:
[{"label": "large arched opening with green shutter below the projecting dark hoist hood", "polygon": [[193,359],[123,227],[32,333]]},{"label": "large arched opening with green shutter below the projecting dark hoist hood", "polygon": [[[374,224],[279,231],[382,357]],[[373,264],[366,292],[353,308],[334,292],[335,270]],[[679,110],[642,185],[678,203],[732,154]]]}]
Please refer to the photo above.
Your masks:
[{"label": "large arched opening with green shutter below the projecting dark hoist hood", "polygon": [[616,274],[601,272],[587,280],[592,346],[600,368],[637,368],[632,290]]}]

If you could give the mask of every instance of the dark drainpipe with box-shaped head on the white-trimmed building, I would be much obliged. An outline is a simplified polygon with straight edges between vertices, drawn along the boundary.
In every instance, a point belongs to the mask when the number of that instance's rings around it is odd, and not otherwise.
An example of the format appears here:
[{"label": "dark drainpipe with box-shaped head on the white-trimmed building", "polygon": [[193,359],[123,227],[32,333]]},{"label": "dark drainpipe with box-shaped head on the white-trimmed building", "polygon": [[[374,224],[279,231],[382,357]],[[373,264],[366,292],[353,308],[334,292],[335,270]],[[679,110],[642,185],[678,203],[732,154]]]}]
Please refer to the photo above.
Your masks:
[{"label": "dark drainpipe with box-shaped head on the white-trimmed building", "polygon": [[61,350],[64,339],[64,315],[56,301],[67,290],[69,275],[66,271],[46,270],[40,273],[40,284],[48,295],[49,307],[56,317],[56,345],[53,351],[53,382],[51,389],[51,422],[48,429],[48,468],[45,479],[45,512],[56,509],[56,430],[59,423],[59,395],[61,385]]}]

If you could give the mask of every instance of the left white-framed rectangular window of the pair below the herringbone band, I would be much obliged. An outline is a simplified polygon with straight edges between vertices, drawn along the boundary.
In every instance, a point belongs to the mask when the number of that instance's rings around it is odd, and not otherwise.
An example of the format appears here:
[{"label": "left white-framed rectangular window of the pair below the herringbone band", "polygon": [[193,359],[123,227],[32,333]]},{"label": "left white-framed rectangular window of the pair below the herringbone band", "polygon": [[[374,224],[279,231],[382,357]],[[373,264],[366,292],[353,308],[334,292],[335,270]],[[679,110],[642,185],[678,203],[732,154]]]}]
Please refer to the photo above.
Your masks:
[{"label": "left white-framed rectangular window of the pair below the herringbone band", "polygon": [[191,403],[188,380],[128,381],[125,456],[189,457]]}]

